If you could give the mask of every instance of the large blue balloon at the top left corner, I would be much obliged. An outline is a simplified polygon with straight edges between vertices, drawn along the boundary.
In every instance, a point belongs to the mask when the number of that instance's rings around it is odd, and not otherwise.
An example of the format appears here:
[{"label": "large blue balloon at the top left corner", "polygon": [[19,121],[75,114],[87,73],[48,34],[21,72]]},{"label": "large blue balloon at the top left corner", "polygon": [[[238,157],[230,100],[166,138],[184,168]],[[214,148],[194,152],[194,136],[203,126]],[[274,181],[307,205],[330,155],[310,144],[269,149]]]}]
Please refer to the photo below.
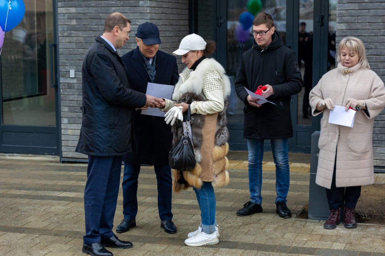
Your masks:
[{"label": "large blue balloon at the top left corner", "polygon": [[7,32],[16,27],[23,20],[24,12],[23,0],[0,0],[0,26],[3,31]]}]

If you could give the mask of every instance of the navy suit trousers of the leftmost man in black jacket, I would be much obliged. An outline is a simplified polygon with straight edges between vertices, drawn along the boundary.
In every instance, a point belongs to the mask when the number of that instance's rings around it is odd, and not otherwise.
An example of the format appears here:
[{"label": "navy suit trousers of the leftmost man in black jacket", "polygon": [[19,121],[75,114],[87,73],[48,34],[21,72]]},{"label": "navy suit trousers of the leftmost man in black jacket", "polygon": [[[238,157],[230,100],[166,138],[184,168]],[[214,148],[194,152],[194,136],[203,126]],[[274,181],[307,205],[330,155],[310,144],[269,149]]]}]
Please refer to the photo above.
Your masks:
[{"label": "navy suit trousers of the leftmost man in black jacket", "polygon": [[122,156],[88,156],[84,189],[84,244],[114,236],[114,216],[119,193]]}]

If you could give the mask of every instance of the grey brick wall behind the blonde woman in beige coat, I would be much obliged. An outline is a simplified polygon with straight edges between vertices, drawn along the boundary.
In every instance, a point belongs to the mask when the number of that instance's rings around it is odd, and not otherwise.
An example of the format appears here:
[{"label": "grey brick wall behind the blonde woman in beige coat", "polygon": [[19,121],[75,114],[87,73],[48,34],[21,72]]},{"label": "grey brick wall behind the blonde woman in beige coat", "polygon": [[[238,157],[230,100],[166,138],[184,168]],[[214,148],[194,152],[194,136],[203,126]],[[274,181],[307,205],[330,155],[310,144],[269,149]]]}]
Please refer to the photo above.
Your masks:
[{"label": "grey brick wall behind the blonde woman in beige coat", "polygon": [[[336,42],[355,36],[365,44],[370,68],[385,81],[385,0],[338,0]],[[338,45],[337,45],[338,46]],[[385,111],[373,129],[375,166],[385,166]]]}]

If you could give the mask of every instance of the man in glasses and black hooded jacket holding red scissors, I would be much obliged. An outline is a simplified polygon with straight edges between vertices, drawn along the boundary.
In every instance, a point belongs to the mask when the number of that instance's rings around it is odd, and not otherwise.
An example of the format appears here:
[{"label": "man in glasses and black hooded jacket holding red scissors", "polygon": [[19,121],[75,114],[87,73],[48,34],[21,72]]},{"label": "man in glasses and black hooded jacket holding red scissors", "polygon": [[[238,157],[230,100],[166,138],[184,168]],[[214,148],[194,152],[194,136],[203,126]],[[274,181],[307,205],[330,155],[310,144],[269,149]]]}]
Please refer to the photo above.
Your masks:
[{"label": "man in glasses and black hooded jacket holding red scissors", "polygon": [[[291,125],[291,95],[302,89],[302,76],[293,50],[285,47],[275,31],[274,20],[260,12],[253,20],[253,48],[243,53],[237,70],[235,90],[244,102],[243,138],[249,151],[248,172],[250,201],[237,211],[238,216],[262,212],[262,160],[264,140],[270,140],[276,166],[276,213],[290,218],[286,205],[289,191],[288,138],[293,136]],[[259,104],[244,87],[256,91],[265,85],[262,96],[275,103]]]}]

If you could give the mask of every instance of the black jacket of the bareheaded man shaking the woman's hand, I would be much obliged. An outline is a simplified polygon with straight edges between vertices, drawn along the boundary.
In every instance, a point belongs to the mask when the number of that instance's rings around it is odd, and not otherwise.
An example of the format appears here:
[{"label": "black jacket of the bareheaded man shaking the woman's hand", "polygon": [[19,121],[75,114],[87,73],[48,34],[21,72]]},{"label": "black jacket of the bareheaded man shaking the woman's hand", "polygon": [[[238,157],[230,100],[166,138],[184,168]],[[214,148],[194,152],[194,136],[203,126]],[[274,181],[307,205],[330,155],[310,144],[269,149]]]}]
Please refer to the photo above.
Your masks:
[{"label": "black jacket of the bareheaded man shaking the woman's hand", "polygon": [[146,95],[130,89],[126,68],[101,37],[85,53],[82,66],[83,113],[76,152],[120,156],[136,150],[132,108],[146,104]]}]

